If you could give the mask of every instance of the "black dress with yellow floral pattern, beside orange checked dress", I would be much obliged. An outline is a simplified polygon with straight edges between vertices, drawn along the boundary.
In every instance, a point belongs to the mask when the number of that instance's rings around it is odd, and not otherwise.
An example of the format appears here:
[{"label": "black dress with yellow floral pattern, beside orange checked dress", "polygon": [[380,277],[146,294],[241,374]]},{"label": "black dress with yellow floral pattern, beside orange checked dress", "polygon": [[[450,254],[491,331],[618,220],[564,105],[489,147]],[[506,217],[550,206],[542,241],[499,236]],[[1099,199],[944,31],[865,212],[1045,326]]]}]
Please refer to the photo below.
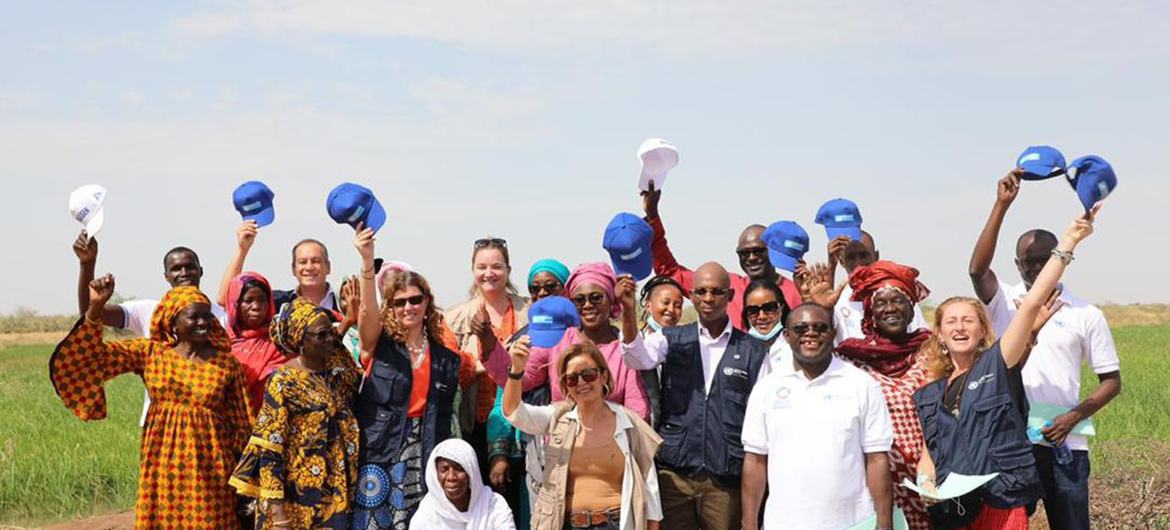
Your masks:
[{"label": "black dress with yellow floral pattern, beside orange checked dress", "polygon": [[[294,529],[347,529],[359,440],[350,405],[360,380],[340,347],[321,372],[277,369],[232,486],[262,502],[282,500]],[[256,528],[273,528],[263,505]]]}]

